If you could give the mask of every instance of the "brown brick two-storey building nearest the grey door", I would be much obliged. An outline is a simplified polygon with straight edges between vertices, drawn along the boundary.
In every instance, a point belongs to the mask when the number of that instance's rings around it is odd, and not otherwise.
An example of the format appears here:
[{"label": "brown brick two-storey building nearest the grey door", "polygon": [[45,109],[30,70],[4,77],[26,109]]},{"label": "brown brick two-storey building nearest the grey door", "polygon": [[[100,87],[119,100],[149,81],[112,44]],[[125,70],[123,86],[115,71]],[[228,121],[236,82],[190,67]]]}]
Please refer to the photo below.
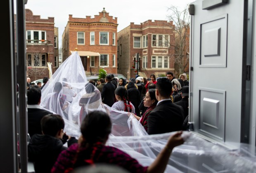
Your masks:
[{"label": "brown brick two-storey building nearest the grey door", "polygon": [[135,77],[136,53],[140,55],[140,76],[161,76],[174,71],[174,49],[170,46],[175,44],[173,27],[172,21],[148,20],[140,25],[130,23],[118,32],[118,73]]}]

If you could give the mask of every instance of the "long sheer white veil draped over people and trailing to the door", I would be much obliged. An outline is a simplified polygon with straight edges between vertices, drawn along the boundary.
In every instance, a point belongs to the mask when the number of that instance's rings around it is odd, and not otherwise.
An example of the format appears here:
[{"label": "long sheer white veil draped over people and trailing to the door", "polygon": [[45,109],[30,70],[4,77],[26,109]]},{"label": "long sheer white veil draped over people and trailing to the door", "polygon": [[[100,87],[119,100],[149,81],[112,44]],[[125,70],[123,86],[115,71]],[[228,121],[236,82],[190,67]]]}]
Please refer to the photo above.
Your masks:
[{"label": "long sheer white veil draped over people and trailing to the door", "polygon": [[[173,132],[148,135],[133,115],[129,117],[127,112],[117,111],[102,104],[99,90],[86,81],[81,59],[75,51],[62,63],[43,88],[41,106],[62,115],[65,121],[64,131],[76,138],[81,135],[81,117],[94,110],[107,112],[112,122],[107,145],[123,150],[143,166],[152,164]],[[76,92],[71,103],[65,100],[65,93],[61,87],[58,87],[60,85],[62,87],[68,85]],[[63,109],[64,104],[68,104],[66,109]],[[251,148],[247,144],[240,144],[237,150],[228,150],[188,131],[184,131],[183,136],[185,143],[174,148],[166,173],[240,173],[256,170],[255,153],[251,153]],[[255,150],[255,147],[252,148]]]}]

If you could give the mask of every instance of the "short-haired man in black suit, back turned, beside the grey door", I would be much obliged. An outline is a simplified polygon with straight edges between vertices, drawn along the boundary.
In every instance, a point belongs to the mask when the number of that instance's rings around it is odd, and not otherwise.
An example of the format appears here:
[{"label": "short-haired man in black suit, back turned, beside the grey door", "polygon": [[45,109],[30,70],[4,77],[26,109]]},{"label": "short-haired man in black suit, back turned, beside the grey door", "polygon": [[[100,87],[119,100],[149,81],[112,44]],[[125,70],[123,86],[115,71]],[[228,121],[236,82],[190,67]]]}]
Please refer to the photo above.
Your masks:
[{"label": "short-haired man in black suit, back turned, beside the grey door", "polygon": [[159,78],[156,83],[156,108],[148,116],[148,134],[162,134],[182,130],[184,111],[181,106],[173,104],[172,83],[168,78]]}]

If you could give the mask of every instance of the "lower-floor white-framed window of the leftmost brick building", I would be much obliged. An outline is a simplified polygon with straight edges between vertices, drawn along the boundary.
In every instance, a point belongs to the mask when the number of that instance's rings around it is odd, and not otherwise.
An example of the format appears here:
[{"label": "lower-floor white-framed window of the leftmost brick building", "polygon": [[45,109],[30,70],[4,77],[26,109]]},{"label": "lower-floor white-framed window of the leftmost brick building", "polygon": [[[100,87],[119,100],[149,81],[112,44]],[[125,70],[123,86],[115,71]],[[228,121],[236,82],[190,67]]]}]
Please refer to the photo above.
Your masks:
[{"label": "lower-floor white-framed window of the leftmost brick building", "polygon": [[45,67],[46,66],[46,54],[28,53],[27,54],[27,66]]}]

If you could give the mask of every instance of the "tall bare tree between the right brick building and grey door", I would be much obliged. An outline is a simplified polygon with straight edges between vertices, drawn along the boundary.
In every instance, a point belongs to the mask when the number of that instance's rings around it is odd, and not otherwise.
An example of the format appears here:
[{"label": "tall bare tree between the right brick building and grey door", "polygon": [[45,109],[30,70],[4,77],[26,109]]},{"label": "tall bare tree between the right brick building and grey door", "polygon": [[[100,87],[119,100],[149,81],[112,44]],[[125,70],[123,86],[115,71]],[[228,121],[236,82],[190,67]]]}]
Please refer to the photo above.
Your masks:
[{"label": "tall bare tree between the right brick building and grey door", "polygon": [[175,25],[175,44],[170,44],[170,47],[175,49],[175,74],[180,74],[185,72],[189,65],[190,15],[187,7],[180,11],[178,7],[171,6],[168,12],[168,20],[173,21]]}]

